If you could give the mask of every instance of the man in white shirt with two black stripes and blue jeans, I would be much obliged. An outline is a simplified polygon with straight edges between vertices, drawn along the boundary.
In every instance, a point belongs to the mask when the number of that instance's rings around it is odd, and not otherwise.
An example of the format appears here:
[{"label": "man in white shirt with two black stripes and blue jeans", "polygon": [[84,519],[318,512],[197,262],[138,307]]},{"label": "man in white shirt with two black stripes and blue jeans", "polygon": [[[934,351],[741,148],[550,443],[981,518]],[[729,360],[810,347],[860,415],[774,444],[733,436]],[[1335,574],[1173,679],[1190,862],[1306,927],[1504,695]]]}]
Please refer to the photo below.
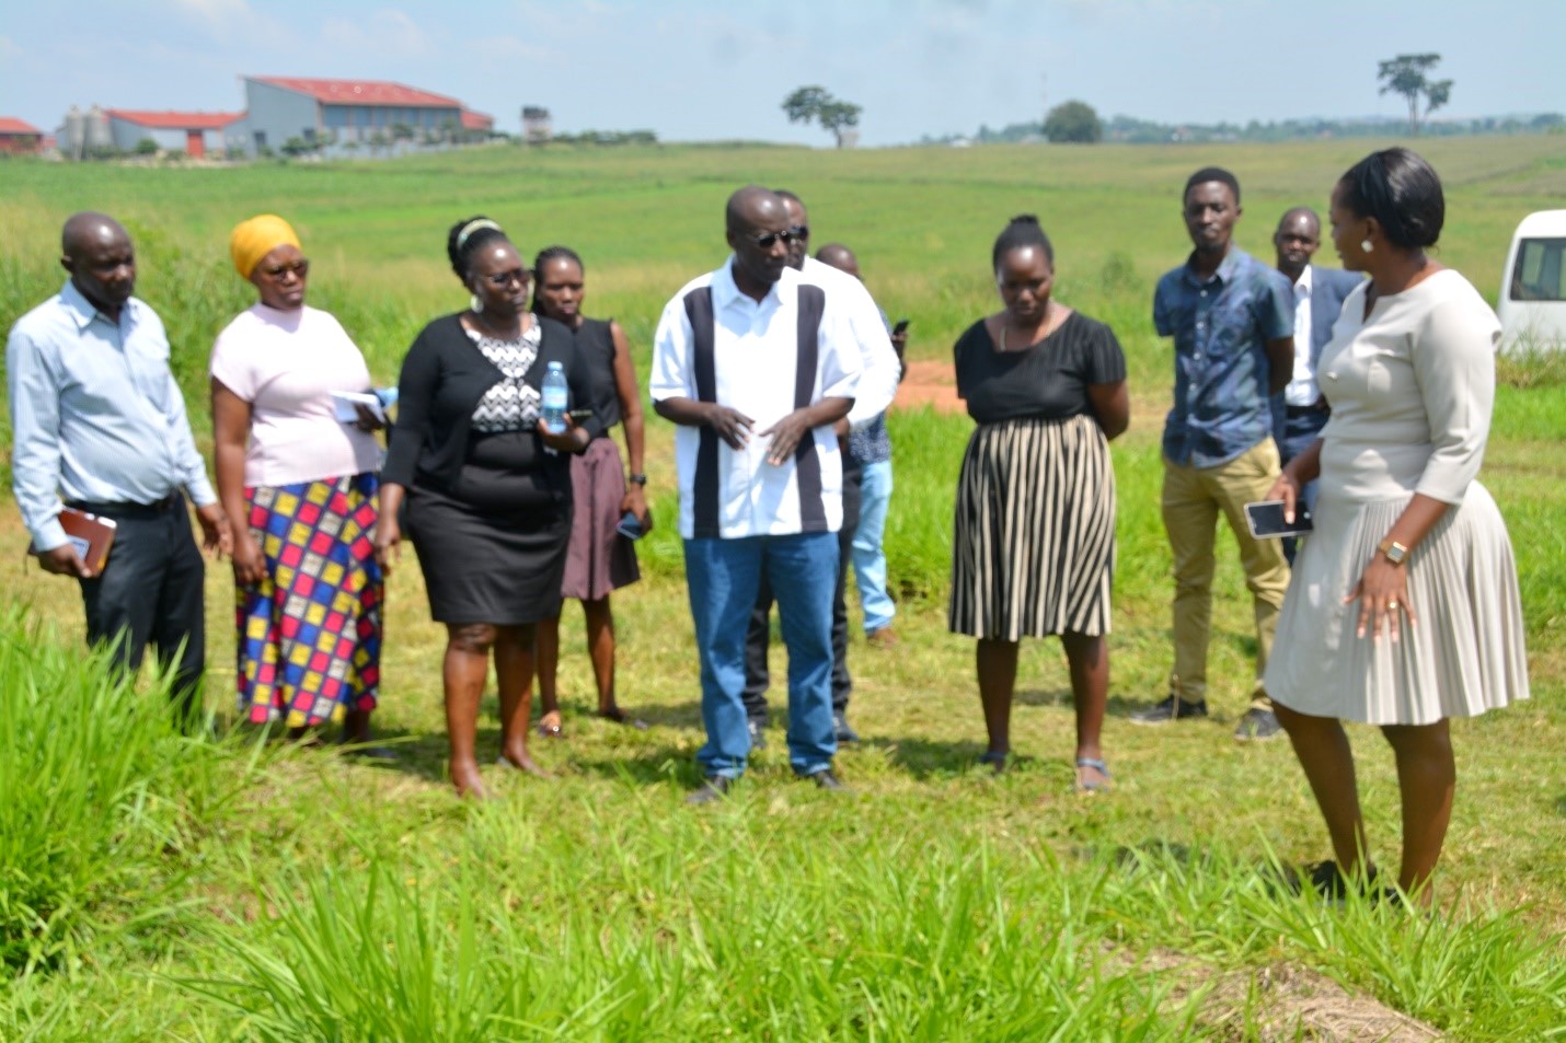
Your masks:
[{"label": "man in white shirt with two black stripes and blue jeans", "polygon": [[789,764],[822,789],[832,772],[832,590],[843,525],[833,424],[849,415],[863,360],[838,304],[788,265],[794,233],[774,193],[727,208],[733,255],[664,309],[648,392],[678,424],[680,536],[702,659],[706,777],[692,803],[745,771],[745,628],[766,576],[789,653]]}]

